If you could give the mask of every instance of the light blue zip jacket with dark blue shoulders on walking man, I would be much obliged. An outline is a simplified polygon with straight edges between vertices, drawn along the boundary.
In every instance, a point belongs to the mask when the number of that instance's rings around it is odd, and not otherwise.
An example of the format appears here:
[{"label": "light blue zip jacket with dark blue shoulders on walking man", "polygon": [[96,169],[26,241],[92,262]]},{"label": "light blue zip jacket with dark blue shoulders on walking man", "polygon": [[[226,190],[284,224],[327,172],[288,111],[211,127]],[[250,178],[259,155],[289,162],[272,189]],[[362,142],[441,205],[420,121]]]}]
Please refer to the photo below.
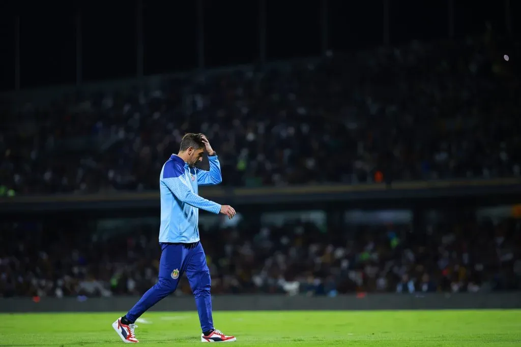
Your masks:
[{"label": "light blue zip jacket with dark blue shoulders on walking man", "polygon": [[218,214],[221,205],[198,195],[199,186],[221,183],[217,156],[208,157],[210,171],[190,168],[181,158],[171,155],[159,176],[161,226],[159,242],[197,242],[199,209]]}]

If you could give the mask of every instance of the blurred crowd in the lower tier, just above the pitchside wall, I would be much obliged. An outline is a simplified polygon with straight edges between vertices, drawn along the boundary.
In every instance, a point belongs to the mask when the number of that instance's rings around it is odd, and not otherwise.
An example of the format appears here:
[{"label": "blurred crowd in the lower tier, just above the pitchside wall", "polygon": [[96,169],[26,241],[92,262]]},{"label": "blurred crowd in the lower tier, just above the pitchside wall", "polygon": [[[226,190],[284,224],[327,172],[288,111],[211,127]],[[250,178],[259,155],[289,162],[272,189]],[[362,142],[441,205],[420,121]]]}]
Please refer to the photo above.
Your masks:
[{"label": "blurred crowd in the lower tier, just above the pitchside wall", "polygon": [[[246,220],[246,219],[245,219]],[[60,225],[61,227],[59,227]],[[141,294],[157,280],[157,227],[4,223],[0,295]],[[202,229],[212,292],[329,295],[521,289],[520,220],[324,229],[287,221]],[[255,232],[252,232],[255,230]],[[191,293],[183,279],[177,295]]]}]

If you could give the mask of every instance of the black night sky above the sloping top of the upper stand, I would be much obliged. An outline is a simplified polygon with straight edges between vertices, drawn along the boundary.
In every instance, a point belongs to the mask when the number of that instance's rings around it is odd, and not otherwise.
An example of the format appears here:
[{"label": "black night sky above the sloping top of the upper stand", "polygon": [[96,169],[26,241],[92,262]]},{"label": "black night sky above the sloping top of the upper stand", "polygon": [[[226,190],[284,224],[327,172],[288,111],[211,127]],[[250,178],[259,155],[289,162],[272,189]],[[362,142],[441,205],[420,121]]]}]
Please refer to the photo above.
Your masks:
[{"label": "black night sky above the sloping top of the upper stand", "polygon": [[16,37],[24,89],[77,82],[78,37],[80,81],[86,82],[462,38],[483,34],[487,21],[505,38],[521,32],[520,5],[512,0],[23,0],[0,6],[4,90],[15,87]]}]

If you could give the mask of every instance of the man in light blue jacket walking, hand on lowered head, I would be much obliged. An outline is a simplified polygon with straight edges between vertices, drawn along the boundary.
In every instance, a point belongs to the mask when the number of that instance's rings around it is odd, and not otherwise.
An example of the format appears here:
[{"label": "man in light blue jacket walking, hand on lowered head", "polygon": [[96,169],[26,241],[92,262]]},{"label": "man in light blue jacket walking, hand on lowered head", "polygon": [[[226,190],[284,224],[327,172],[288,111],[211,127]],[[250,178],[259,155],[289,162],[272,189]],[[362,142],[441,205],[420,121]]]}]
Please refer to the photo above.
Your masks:
[{"label": "man in light blue jacket walking, hand on lowered head", "polygon": [[[197,169],[208,153],[210,170]],[[119,337],[126,343],[137,343],[134,323],[146,310],[167,297],[177,288],[183,273],[187,274],[192,288],[201,323],[202,342],[231,342],[235,337],[226,336],[214,328],[212,297],[210,297],[210,273],[206,255],[199,238],[199,209],[215,214],[226,214],[229,219],[235,210],[229,205],[219,205],[198,195],[199,186],[221,183],[221,169],[216,152],[203,134],[186,134],[181,140],[177,155],[171,155],[159,176],[161,195],[161,225],[159,228],[159,278],[137,304],[112,324]]]}]

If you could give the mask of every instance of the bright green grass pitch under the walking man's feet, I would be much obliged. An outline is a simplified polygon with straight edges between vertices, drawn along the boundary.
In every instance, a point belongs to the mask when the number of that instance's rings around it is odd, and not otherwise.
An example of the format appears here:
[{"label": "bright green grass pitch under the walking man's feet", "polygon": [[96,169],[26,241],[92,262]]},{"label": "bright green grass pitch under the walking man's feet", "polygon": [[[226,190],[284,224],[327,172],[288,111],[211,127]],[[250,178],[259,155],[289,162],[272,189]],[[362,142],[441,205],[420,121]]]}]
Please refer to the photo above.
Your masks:
[{"label": "bright green grass pitch under the walking man's feet", "polygon": [[[117,346],[117,313],[1,314],[1,346]],[[197,312],[151,312],[140,345],[201,343]],[[521,311],[216,312],[233,346],[521,346]]]}]

